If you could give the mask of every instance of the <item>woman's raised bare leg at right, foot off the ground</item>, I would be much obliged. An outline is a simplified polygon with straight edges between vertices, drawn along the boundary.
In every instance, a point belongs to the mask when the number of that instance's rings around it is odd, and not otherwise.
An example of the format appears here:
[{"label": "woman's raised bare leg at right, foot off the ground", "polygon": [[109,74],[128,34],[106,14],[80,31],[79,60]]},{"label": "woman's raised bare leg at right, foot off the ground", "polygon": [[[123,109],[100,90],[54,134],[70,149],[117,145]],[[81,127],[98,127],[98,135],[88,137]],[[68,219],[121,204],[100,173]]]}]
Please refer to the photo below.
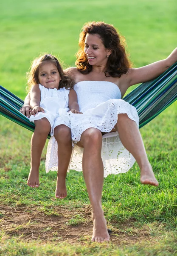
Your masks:
[{"label": "woman's raised bare leg at right, foot off the ground", "polygon": [[135,157],[140,167],[141,183],[158,186],[136,123],[129,119],[127,114],[119,114],[117,129],[122,144]]}]

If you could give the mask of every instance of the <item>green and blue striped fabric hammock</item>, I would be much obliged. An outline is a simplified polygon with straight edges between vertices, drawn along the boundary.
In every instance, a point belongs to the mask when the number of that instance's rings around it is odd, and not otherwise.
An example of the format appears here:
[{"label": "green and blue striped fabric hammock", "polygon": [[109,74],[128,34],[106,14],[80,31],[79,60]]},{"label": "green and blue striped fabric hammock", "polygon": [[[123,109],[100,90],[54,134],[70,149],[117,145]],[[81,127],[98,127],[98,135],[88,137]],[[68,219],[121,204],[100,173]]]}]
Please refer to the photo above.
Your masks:
[{"label": "green and blue striped fabric hammock", "polygon": [[[140,84],[123,99],[135,106],[140,118],[139,128],[143,127],[177,99],[177,63],[158,78]],[[19,111],[22,105],[22,99],[0,86],[0,114],[34,131],[34,123]]]}]

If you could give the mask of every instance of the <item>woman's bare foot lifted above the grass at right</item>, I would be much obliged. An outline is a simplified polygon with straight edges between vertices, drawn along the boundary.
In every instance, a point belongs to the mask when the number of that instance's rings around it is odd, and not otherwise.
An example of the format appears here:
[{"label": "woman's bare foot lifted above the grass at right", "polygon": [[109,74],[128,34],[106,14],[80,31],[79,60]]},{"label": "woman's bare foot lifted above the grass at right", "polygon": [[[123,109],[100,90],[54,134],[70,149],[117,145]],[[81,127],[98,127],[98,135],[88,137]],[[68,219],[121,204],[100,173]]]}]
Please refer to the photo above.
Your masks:
[{"label": "woman's bare foot lifted above the grass at right", "polygon": [[146,165],[141,167],[141,177],[140,177],[140,182],[142,184],[149,184],[152,186],[158,186],[159,183],[155,178],[154,172],[152,170],[152,166]]}]

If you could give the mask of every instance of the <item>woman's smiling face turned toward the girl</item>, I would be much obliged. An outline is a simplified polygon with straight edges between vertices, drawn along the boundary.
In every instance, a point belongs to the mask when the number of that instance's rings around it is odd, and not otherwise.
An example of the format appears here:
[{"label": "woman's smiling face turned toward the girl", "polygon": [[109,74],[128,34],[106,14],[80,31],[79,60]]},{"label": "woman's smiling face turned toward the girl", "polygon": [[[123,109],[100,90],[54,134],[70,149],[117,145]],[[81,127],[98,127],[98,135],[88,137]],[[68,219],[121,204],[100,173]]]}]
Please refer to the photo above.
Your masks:
[{"label": "woman's smiling face turned toward the girl", "polygon": [[104,47],[103,42],[97,34],[87,34],[85,37],[84,52],[90,65],[105,66],[111,51]]}]

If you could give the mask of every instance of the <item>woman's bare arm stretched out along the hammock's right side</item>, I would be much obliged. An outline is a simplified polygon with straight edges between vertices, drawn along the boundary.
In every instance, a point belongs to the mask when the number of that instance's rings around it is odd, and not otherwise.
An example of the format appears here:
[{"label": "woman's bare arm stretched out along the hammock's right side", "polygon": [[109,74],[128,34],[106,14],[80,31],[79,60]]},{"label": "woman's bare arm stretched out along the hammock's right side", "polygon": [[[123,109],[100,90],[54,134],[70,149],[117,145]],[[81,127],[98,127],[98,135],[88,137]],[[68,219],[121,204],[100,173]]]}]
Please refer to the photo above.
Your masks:
[{"label": "woman's bare arm stretched out along the hammock's right side", "polygon": [[140,68],[130,68],[127,74],[128,85],[143,83],[160,76],[177,61],[177,48],[164,60]]}]

